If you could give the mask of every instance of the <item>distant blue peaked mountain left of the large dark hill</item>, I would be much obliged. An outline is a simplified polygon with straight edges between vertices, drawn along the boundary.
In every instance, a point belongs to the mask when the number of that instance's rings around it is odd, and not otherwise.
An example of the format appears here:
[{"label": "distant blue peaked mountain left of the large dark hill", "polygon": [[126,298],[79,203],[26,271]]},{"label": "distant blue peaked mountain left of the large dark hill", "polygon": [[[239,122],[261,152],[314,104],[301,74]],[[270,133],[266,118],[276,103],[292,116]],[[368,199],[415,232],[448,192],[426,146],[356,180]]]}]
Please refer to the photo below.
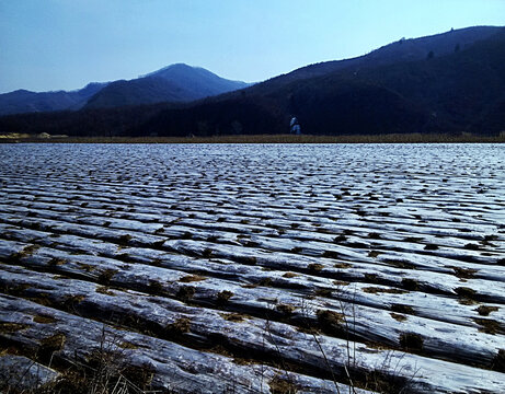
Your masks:
[{"label": "distant blue peaked mountain left of the large dark hill", "polygon": [[245,82],[220,78],[203,68],[177,63],[138,79],[110,83],[89,100],[85,108],[191,102],[248,85]]}]

